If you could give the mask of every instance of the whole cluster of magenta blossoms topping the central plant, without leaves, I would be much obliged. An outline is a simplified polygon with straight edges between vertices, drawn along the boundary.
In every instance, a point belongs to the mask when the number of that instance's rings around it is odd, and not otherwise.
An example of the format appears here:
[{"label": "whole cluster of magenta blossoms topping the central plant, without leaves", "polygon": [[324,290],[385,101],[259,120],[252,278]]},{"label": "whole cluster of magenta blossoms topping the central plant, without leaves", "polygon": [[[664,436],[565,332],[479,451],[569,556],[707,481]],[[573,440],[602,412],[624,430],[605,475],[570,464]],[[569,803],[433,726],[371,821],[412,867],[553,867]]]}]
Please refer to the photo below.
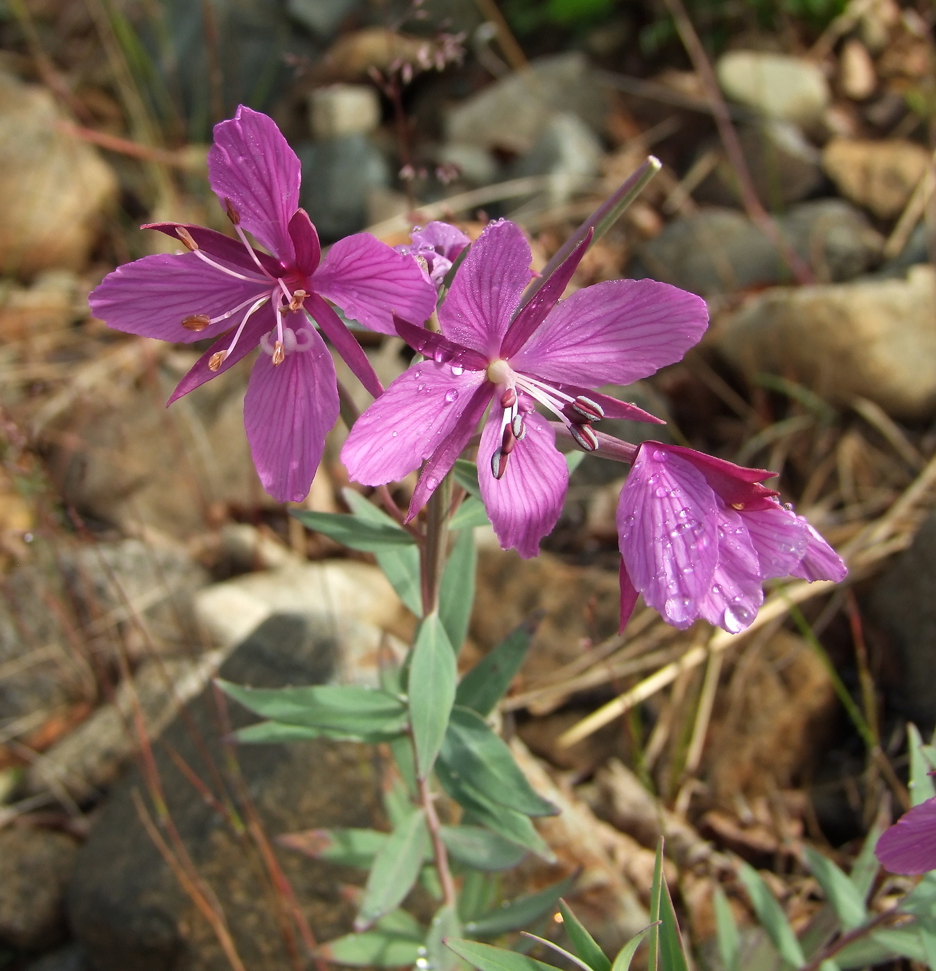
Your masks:
[{"label": "whole cluster of magenta blossoms topping the central plant, without leaves", "polygon": [[[501,546],[521,556],[536,555],[562,509],[569,472],[557,434],[631,462],[618,507],[622,624],[642,593],[678,627],[704,618],[739,631],[756,615],[765,579],[845,575],[812,526],[762,485],[770,472],[658,442],[634,447],[594,427],[603,418],[658,421],[597,388],[629,385],[680,360],[708,325],[699,297],[613,280],[561,299],[587,238],[524,300],[531,252],[504,219],[471,246],[438,307],[469,243],[450,225],[430,223],[397,251],[360,233],[322,259],[298,208],[299,161],[272,119],[248,108],[217,125],[209,174],[237,240],[153,225],[186,251],[118,268],[91,294],[91,309],[147,337],[215,338],[171,401],[252,349],[264,352],[251,372],[245,426],[260,479],[277,499],[306,495],[338,417],[323,335],[376,399],[342,452],[351,479],[384,485],[421,467],[411,519],[483,419],[481,495]],[[398,333],[424,359],[384,390],[331,304],[372,330]],[[436,311],[432,330],[423,321]]]}]

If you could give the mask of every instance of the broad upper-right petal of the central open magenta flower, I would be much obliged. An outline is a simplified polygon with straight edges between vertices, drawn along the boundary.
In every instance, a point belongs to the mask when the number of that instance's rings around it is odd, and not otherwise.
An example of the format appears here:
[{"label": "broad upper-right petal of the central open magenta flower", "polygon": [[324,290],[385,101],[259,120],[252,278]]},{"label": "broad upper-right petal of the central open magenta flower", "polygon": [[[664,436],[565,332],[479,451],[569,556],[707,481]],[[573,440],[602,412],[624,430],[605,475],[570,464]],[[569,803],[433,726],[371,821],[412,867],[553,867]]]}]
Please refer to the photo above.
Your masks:
[{"label": "broad upper-right petal of the central open magenta flower", "polygon": [[708,320],[705,301],[685,290],[609,280],[560,301],[511,364],[550,381],[629,385],[680,360]]}]

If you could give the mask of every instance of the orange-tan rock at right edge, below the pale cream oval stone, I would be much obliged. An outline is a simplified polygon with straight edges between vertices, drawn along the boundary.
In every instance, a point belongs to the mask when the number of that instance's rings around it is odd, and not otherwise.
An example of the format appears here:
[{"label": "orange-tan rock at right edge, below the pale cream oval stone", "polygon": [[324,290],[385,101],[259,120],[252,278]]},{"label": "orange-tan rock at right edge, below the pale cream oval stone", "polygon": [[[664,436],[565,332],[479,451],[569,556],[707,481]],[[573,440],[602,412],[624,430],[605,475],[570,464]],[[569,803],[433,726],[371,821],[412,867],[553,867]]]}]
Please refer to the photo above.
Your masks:
[{"label": "orange-tan rock at right edge, below the pale cream oval stone", "polygon": [[899,216],[929,165],[929,153],[914,142],[832,139],[822,167],[847,199],[882,219]]}]

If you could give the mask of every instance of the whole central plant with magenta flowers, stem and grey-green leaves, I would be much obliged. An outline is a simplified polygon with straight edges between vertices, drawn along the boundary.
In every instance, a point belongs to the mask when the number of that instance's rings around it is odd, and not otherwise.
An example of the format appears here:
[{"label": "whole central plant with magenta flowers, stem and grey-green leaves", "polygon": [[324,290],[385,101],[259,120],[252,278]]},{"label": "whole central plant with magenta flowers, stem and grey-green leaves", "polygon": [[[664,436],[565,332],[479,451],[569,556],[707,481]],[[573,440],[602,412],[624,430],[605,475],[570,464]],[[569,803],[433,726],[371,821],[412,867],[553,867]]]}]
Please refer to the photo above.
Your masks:
[{"label": "whole central plant with magenta flowers, stem and grey-green leaves", "polygon": [[[741,631],[763,602],[765,579],[839,580],[844,563],[763,485],[770,471],[600,430],[606,417],[661,423],[598,388],[680,360],[708,324],[699,297],[652,280],[607,281],[561,299],[585,251],[650,180],[655,159],[538,276],[523,233],[505,219],[473,243],[431,222],[409,246],[393,250],[359,233],[323,257],[298,206],[299,160],[273,120],[249,108],[216,126],[208,163],[234,236],[180,223],[145,227],[184,249],[117,268],[91,294],[92,312],[133,334],[212,341],[171,401],[259,347],[244,423],[260,480],[280,501],[307,495],[341,414],[351,424],[342,459],[351,480],[375,486],[380,505],[348,489],[347,515],[293,515],[373,553],[419,619],[412,649],[384,666],[379,687],[222,685],[263,719],[239,732],[241,742],[349,739],[392,753],[400,783],[386,800],[390,832],[335,829],[320,839],[319,855],[368,871],[354,933],[324,953],[347,964],[448,969],[457,953],[483,971],[495,963],[514,971],[518,960],[528,971],[542,967],[466,939],[542,919],[571,889],[567,880],[495,906],[498,871],[527,853],[551,858],[532,820],[556,809],[491,724],[530,631],[508,633],[458,677],[474,594],[473,529],[489,521],[504,549],[535,556],[559,518],[575,459],[593,453],[630,465],[618,504],[621,626],[640,593],[677,627],[703,618]],[[412,365],[384,389],[346,320],[398,334],[416,352]],[[326,340],[374,398],[360,416]],[[575,451],[563,454],[557,439]],[[400,509],[388,486],[416,471],[409,509]],[[456,807],[446,820],[440,790]],[[400,907],[418,881],[437,901],[428,928]],[[685,967],[664,891],[658,877],[652,954]],[[572,959],[608,971],[610,960],[563,914]],[[638,943],[618,954],[616,971]],[[508,956],[495,960],[495,952]]]}]

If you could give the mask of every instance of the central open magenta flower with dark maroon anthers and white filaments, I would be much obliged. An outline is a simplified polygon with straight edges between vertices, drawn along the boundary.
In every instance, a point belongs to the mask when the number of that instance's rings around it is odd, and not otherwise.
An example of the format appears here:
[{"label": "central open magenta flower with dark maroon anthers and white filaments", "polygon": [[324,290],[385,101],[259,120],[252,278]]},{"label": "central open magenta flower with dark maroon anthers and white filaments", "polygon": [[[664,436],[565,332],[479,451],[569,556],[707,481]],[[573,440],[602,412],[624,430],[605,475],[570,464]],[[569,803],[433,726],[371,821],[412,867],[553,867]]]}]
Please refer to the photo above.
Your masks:
[{"label": "central open magenta flower with dark maroon anthers and white filaments", "polygon": [[560,301],[588,242],[521,305],[530,248],[512,222],[488,225],[439,308],[441,333],[397,319],[400,335],[428,359],[355,422],[342,452],[351,478],[383,485],[428,459],[410,505],[416,515],[491,405],[478,452],[482,498],[501,546],[535,556],[569,478],[535,405],[586,450],[598,444],[596,419],[655,421],[592,388],[628,385],[679,360],[708,321],[701,299],[650,280],[608,281]]}]

